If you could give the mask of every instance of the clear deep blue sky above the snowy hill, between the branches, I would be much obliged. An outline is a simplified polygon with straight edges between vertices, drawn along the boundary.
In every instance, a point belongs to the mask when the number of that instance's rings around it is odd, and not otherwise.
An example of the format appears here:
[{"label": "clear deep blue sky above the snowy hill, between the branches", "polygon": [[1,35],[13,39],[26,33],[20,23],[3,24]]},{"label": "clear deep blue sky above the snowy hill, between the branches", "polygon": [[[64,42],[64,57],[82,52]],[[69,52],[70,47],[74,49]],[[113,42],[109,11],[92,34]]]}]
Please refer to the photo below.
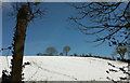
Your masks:
[{"label": "clear deep blue sky above the snowy hill, between the branches", "polygon": [[[8,47],[12,43],[16,23],[15,18],[9,16],[12,10],[10,3],[3,5],[5,8],[2,10],[2,46]],[[98,43],[86,42],[94,37],[86,36],[70,25],[67,17],[76,14],[74,8],[57,2],[43,3],[42,6],[47,8],[43,18],[37,18],[28,25],[25,55],[44,53],[49,46],[54,46],[61,53],[65,45],[69,45],[72,47],[69,55],[92,53],[95,56],[110,56],[114,49],[109,47],[107,42],[95,47]],[[3,55],[5,54],[6,52],[3,52]]]}]

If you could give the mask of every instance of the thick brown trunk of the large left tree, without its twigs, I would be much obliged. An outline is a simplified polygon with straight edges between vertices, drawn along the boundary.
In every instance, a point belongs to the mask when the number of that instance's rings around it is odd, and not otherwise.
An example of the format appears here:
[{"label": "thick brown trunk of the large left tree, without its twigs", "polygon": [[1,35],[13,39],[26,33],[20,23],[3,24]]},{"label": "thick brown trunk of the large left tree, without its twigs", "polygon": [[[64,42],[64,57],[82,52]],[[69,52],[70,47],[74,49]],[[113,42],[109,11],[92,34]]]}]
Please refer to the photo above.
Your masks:
[{"label": "thick brown trunk of the large left tree, without its twigs", "polygon": [[22,83],[22,65],[24,56],[24,46],[26,39],[26,29],[27,29],[27,11],[22,6],[17,13],[17,23],[14,33],[14,44],[13,44],[13,60],[12,60],[12,72],[10,82],[11,83]]}]

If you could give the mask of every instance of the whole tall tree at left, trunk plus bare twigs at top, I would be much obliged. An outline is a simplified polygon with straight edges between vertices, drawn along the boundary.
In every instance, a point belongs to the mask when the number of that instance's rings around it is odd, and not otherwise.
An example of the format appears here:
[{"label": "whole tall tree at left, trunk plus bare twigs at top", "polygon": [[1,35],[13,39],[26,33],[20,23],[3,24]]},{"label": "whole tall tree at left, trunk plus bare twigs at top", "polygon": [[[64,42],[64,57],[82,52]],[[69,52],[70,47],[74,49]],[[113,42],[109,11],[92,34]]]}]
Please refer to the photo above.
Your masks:
[{"label": "whole tall tree at left, trunk plus bare twigs at top", "polygon": [[13,9],[16,14],[16,26],[15,33],[13,37],[13,59],[12,59],[12,71],[10,82],[22,83],[22,65],[24,56],[24,46],[26,39],[26,30],[28,24],[36,17],[42,16],[44,10],[42,11],[38,8],[40,3],[38,2],[15,2],[13,3]]}]

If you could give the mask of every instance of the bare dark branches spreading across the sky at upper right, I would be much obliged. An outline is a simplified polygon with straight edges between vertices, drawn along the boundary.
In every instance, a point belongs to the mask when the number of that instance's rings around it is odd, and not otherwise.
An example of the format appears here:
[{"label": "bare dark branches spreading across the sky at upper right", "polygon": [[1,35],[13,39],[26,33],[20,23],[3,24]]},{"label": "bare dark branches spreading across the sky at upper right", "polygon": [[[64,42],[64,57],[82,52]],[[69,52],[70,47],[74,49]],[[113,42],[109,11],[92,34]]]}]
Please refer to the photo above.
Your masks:
[{"label": "bare dark branches spreading across the sky at upper right", "polygon": [[[109,46],[128,45],[128,59],[130,59],[130,1],[128,2],[82,2],[70,3],[78,11],[77,16],[69,17],[78,29],[84,34],[93,34],[96,40],[106,40]],[[90,20],[91,24],[87,20]],[[128,61],[130,72],[130,61]],[[130,80],[130,75],[128,78]]]}]

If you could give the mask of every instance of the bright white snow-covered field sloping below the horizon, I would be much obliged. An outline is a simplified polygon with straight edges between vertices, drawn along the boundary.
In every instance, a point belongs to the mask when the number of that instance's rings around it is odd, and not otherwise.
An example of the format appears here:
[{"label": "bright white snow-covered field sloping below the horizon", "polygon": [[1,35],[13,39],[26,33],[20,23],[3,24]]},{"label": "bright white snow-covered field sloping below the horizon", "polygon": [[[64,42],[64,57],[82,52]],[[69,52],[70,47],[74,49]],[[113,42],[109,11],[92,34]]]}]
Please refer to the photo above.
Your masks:
[{"label": "bright white snow-covered field sloping below the horizon", "polygon": [[[10,59],[11,56],[0,56],[0,77],[3,69],[10,70]],[[94,57],[25,56],[24,61],[30,63],[24,69],[25,81],[108,81],[106,77],[118,80],[123,73],[106,73],[112,68],[107,63],[127,66],[126,63]]]}]

